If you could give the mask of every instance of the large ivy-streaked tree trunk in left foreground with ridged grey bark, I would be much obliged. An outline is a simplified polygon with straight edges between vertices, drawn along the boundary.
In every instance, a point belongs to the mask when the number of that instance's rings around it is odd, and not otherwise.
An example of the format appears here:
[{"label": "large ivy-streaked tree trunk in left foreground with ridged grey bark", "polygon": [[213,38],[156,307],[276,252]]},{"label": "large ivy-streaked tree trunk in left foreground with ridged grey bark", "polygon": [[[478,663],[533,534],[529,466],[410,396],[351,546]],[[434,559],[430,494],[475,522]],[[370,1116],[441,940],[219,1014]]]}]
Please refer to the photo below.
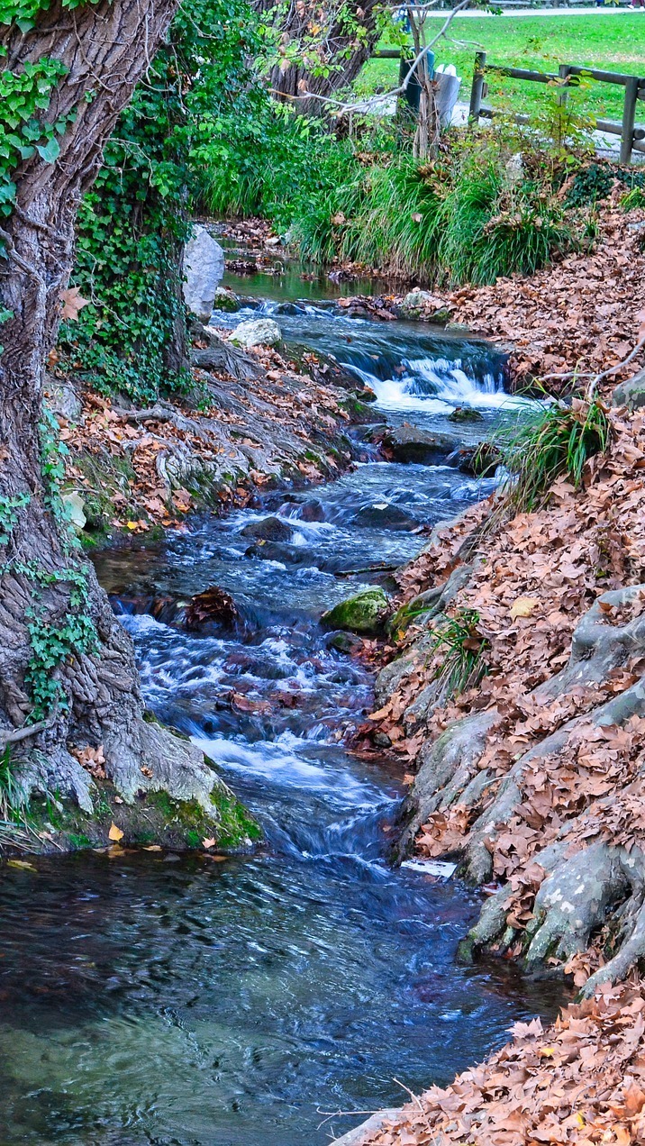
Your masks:
[{"label": "large ivy-streaked tree trunk in left foreground with ridged grey bark", "polygon": [[10,749],[27,795],[73,794],[91,814],[94,783],[69,749],[101,745],[126,803],[164,788],[217,818],[213,793],[223,785],[202,753],[143,720],[132,642],[61,520],[47,477],[55,456],[46,453],[44,469],[39,442],[80,197],[176,5],[101,0],[70,10],[56,0],[33,30],[2,30],[11,71],[42,57],[65,64],[46,118],[73,117],[54,164],[36,154],[14,173],[16,205],[0,229],[0,295],[13,312],[0,327],[0,749]]}]

